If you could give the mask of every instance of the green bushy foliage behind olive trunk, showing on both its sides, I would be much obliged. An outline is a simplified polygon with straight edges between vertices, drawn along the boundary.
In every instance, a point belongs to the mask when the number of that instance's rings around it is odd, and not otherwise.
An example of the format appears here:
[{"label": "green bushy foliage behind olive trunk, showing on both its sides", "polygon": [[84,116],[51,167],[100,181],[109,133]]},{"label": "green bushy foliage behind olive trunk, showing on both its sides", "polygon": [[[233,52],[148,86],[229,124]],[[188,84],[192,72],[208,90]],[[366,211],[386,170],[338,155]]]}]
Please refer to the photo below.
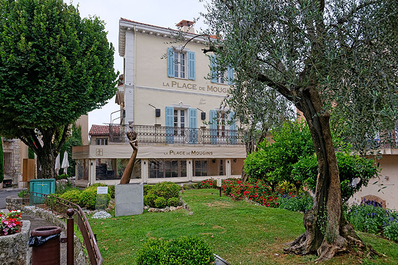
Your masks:
[{"label": "green bushy foliage behind olive trunk, showing on both its sides", "polygon": [[[377,177],[379,169],[375,166],[374,160],[352,154],[349,150],[336,152],[336,157],[339,167],[341,198],[343,202],[346,202],[359,189],[367,187],[369,180]],[[303,182],[312,192],[315,192],[318,175],[315,155],[310,155],[295,163],[291,173],[293,179]],[[354,183],[354,179],[358,179],[358,182]]]}]

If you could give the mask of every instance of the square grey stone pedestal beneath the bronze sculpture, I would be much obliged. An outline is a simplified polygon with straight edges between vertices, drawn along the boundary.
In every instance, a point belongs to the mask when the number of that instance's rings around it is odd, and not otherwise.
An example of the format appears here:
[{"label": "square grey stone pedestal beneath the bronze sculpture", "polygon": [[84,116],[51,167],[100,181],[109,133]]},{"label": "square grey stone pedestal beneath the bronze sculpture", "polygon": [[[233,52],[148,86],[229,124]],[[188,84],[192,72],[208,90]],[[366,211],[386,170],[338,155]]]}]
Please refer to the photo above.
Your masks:
[{"label": "square grey stone pedestal beneath the bronze sculpture", "polygon": [[143,183],[115,185],[115,216],[140,215],[143,210]]}]

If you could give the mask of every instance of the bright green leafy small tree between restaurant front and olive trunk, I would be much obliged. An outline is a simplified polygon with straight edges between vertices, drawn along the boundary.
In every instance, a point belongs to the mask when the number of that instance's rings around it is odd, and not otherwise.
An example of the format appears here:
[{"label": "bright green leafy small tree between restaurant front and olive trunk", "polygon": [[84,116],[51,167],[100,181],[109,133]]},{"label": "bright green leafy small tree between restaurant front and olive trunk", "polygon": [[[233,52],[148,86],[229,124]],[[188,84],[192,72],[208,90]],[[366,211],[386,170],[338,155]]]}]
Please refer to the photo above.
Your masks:
[{"label": "bright green leafy small tree between restaurant front and olive trunk", "polygon": [[281,181],[296,187],[298,195],[302,182],[292,177],[293,165],[301,157],[314,153],[311,134],[304,122],[286,122],[281,128],[271,131],[274,143],[259,144],[259,150],[247,155],[244,170],[250,176],[267,182],[275,189]]}]

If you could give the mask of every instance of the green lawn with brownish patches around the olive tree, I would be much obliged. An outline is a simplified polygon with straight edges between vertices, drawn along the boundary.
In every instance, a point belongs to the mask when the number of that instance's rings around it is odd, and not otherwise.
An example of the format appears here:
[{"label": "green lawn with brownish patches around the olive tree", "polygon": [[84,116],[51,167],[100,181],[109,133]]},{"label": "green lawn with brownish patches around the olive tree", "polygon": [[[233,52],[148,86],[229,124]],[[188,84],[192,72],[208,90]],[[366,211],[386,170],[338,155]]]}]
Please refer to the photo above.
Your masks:
[{"label": "green lawn with brownish patches around the olive tree", "polygon": [[[196,235],[231,264],[314,264],[316,256],[283,253],[286,242],[304,232],[303,214],[218,197],[215,190],[188,190],[183,199],[194,212],[147,213],[106,220],[90,219],[104,264],[135,264],[138,249],[154,237],[165,240]],[[339,256],[317,264],[398,264],[398,244],[360,233],[384,254],[377,260]]]}]

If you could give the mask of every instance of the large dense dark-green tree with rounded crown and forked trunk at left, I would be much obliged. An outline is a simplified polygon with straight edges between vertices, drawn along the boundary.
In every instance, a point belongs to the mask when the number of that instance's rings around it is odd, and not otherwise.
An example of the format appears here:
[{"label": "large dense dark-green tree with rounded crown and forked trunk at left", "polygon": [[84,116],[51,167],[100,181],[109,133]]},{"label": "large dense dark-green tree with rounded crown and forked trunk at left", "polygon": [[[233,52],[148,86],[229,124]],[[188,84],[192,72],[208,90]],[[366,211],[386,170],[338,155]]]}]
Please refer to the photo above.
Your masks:
[{"label": "large dense dark-green tree with rounded crown and forked trunk at left", "polygon": [[98,17],[62,0],[0,0],[0,132],[32,148],[44,177],[69,125],[114,95],[113,54]]}]

